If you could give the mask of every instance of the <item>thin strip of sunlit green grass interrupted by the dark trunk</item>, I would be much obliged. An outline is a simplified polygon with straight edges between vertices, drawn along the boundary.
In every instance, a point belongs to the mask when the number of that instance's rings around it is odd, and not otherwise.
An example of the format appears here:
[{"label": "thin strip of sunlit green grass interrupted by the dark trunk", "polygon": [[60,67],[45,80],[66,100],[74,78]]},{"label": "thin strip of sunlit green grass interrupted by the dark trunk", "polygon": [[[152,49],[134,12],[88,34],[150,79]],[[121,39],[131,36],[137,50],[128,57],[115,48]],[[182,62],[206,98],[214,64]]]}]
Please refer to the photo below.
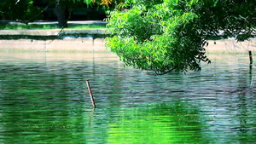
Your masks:
[{"label": "thin strip of sunlit green grass interrupted by the dark trunk", "polygon": [[[0,24],[0,30],[52,30],[52,29],[60,29],[57,25],[38,25],[38,24]],[[106,29],[106,25],[96,25],[96,24],[84,24],[84,25],[76,25],[76,24],[68,24],[68,28],[73,30],[91,30],[91,29]]]}]

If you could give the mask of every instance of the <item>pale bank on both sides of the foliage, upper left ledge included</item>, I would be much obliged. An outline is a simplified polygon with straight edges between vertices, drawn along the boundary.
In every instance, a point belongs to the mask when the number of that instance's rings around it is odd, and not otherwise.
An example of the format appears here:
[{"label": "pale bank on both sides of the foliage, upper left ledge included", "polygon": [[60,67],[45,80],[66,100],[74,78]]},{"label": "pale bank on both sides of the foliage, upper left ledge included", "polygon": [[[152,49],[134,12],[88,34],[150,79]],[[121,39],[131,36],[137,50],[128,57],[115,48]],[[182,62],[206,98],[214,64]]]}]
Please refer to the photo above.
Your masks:
[{"label": "pale bank on both sides of the foliage, upper left ledge included", "polygon": [[[0,51],[24,52],[109,52],[105,48],[104,29],[91,30],[0,30]],[[243,54],[256,52],[256,37],[243,42],[235,38],[207,40],[211,54]]]}]

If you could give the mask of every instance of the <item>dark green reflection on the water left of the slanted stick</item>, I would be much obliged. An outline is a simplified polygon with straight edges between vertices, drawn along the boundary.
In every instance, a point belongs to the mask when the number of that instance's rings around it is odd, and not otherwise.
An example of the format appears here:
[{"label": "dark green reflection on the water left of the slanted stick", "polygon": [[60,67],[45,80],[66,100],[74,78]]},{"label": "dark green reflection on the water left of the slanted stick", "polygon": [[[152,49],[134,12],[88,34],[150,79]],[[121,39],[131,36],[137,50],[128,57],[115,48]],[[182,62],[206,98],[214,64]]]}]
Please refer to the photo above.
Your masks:
[{"label": "dark green reflection on the water left of the slanted stick", "polygon": [[94,141],[84,78],[27,67],[0,67],[0,143]]}]

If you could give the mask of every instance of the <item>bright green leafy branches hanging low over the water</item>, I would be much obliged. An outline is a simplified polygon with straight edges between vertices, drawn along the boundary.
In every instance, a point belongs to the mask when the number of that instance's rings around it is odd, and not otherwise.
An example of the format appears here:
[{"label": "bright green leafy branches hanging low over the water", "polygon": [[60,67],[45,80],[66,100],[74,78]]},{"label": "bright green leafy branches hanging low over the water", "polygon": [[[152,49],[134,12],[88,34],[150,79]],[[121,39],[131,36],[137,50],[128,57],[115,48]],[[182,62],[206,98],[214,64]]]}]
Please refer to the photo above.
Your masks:
[{"label": "bright green leafy branches hanging low over the water", "polygon": [[255,35],[255,1],[131,0],[109,14],[107,47],[126,66],[167,72],[200,71],[207,38]]}]

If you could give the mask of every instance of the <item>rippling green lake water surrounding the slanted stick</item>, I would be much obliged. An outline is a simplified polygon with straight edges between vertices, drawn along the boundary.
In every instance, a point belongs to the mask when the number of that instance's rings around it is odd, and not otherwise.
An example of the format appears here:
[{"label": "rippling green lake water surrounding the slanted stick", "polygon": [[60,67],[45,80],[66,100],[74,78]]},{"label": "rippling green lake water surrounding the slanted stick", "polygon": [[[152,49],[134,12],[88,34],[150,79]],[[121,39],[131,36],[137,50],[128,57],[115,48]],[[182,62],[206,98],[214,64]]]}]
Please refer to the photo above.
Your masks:
[{"label": "rippling green lake water surrounding the slanted stick", "polygon": [[0,143],[255,142],[255,65],[209,58],[155,76],[111,53],[1,52]]}]

